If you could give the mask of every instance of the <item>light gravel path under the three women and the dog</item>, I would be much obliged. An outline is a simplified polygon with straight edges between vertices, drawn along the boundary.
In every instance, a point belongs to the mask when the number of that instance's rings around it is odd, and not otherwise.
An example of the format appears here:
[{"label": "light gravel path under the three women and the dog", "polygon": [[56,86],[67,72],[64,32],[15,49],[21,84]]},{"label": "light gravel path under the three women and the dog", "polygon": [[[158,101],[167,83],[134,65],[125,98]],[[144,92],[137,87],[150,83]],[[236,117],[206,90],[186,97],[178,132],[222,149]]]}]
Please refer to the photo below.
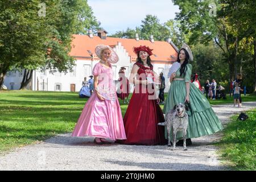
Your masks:
[{"label": "light gravel path under the three women and the dog", "polygon": [[[232,114],[256,107],[256,102],[213,106],[225,126]],[[228,170],[210,145],[221,133],[194,138],[188,151],[167,146],[97,145],[92,137],[61,134],[44,142],[15,148],[0,156],[0,170]]]}]

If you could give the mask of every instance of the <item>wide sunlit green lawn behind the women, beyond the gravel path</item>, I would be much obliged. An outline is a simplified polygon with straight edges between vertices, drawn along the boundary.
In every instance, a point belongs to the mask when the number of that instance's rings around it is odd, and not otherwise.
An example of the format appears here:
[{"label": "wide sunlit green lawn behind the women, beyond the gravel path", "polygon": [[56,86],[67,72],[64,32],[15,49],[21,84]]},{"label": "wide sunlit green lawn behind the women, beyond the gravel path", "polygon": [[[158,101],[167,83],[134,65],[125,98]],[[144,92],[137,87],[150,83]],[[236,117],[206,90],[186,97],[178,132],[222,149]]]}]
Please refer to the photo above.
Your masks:
[{"label": "wide sunlit green lawn behind the women, beyond the gravel path", "polygon": [[[72,92],[0,91],[0,152],[71,132],[87,100]],[[252,100],[256,96],[243,97]],[[227,102],[233,101],[210,101]],[[125,115],[127,104],[119,103]]]}]

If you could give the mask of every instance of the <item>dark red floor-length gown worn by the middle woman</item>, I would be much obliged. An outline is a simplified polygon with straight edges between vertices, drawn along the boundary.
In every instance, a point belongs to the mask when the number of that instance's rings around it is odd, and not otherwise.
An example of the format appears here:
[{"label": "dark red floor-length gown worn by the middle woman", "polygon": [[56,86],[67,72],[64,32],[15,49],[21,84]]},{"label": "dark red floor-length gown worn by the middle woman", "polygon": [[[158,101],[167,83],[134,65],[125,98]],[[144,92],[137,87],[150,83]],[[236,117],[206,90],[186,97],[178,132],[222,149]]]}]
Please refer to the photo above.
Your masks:
[{"label": "dark red floor-length gown worn by the middle woman", "polygon": [[[146,68],[138,62],[135,64],[139,66],[139,80],[146,80],[143,73],[146,69],[152,70],[152,67]],[[136,90],[139,90],[139,93],[135,93]],[[163,112],[156,100],[148,99],[149,95],[146,85],[135,85],[133,96],[123,118],[127,139],[121,140],[122,144],[166,144],[164,127],[158,126],[159,122],[164,122]]]}]

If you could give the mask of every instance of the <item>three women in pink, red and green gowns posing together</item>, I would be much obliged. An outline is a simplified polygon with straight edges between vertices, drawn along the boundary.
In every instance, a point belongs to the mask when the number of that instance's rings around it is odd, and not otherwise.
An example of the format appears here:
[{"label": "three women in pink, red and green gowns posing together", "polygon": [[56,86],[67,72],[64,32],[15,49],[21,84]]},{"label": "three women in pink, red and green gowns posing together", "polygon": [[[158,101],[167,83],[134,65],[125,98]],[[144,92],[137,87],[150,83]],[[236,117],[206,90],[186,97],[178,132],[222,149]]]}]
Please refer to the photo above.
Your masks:
[{"label": "three women in pink, red and green gowns posing together", "polygon": [[[109,46],[96,47],[95,52],[101,60],[93,68],[94,92],[82,110],[72,137],[95,137],[94,142],[97,144],[110,143],[109,140],[135,145],[167,144],[166,128],[158,123],[164,122],[164,114],[176,104],[185,102],[191,105],[191,110],[188,111],[189,139],[210,135],[223,129],[207,98],[191,83],[192,65],[189,61],[193,60],[193,55],[189,46],[183,44],[179,50],[177,69],[170,74],[171,86],[163,111],[159,106],[156,84],[161,85],[164,80],[161,76],[157,77],[153,71],[150,58],[153,50],[139,46],[134,47],[133,51],[137,55],[137,62],[126,82],[134,84],[134,92],[122,118],[113,84],[112,64],[118,61],[117,53]],[[119,74],[123,74],[122,69]],[[129,87],[122,86],[126,89]],[[160,89],[164,87],[165,85],[161,85]],[[182,134],[178,133],[177,139],[181,138]]]}]

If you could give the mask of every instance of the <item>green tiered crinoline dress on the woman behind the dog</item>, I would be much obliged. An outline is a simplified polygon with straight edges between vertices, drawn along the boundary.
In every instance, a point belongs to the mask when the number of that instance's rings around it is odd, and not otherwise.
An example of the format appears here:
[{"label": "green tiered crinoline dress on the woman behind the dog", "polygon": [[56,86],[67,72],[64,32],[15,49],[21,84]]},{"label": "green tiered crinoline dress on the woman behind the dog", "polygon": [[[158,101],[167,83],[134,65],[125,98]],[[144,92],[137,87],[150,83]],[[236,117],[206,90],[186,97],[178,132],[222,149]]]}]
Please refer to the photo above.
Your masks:
[{"label": "green tiered crinoline dress on the woman behind the dog", "polygon": [[[210,135],[223,129],[220,120],[214,113],[212,107],[205,98],[204,94],[191,83],[192,65],[187,64],[185,77],[180,76],[180,69],[176,71],[175,78],[184,78],[184,80],[173,80],[168,92],[168,97],[164,104],[163,113],[167,114],[176,104],[183,103],[186,96],[185,82],[190,84],[189,102],[191,110],[188,111],[188,129],[187,138],[196,138],[204,135]],[[167,138],[167,131],[165,131]],[[182,132],[177,133],[176,139],[182,139]],[[172,134],[171,134],[172,139]]]}]

